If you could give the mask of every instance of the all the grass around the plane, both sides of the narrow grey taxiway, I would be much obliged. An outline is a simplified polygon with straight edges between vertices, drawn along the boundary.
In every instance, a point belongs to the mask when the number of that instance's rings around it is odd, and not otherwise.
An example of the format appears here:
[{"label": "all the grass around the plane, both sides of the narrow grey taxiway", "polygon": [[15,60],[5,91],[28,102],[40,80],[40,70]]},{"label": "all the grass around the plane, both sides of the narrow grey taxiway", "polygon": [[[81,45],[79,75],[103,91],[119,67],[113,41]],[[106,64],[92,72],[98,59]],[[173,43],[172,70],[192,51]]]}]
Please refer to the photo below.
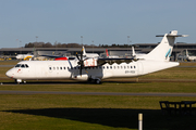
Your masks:
[{"label": "all the grass around the plane, both sides of the narrow grey taxiway", "polygon": [[[195,65],[195,63],[181,64],[181,66]],[[10,67],[0,67],[0,82],[13,82],[4,75],[8,69]],[[138,82],[130,81],[128,78],[108,79],[102,84],[86,82],[76,84],[60,80],[62,83],[57,84],[3,84],[0,86],[0,90],[196,93],[195,74],[194,67],[175,67],[139,77]],[[196,101],[196,98],[0,94],[0,129],[137,130],[137,115],[143,113],[144,130],[196,130],[195,113],[162,115],[159,101]]]}]

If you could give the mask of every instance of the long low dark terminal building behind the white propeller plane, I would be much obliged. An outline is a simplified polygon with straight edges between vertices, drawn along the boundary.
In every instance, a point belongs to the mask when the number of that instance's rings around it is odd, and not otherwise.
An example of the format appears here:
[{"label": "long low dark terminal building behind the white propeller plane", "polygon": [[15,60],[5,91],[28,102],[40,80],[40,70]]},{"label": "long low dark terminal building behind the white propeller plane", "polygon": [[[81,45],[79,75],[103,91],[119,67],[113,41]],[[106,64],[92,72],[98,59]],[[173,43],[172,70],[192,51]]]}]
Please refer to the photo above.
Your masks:
[{"label": "long low dark terminal building behind the white propeller plane", "polygon": [[[136,43],[133,44],[136,53],[148,53],[158,43]],[[126,57],[132,55],[132,48],[85,48],[87,53],[98,53],[100,56],[106,55],[108,49],[109,55],[118,55]],[[172,61],[177,60],[179,55],[184,55],[185,50],[188,50],[191,55],[196,55],[196,43],[175,43],[172,52]],[[0,55],[14,58],[17,54],[33,53],[34,55],[61,55],[61,56],[75,56],[76,52],[79,54],[82,48],[2,48]]]}]

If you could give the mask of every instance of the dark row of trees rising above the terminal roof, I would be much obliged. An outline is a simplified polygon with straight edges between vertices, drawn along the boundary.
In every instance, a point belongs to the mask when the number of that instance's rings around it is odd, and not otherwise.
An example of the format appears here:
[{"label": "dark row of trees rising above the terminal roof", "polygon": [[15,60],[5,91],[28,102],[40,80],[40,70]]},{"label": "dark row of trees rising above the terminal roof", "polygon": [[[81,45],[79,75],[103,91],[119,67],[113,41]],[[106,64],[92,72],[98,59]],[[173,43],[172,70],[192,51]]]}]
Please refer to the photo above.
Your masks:
[{"label": "dark row of trees rising above the terminal roof", "polygon": [[82,47],[85,47],[85,48],[130,48],[132,47],[132,44],[111,44],[111,46],[108,46],[108,44],[99,44],[99,46],[96,46],[96,44],[79,44],[79,43],[60,43],[60,42],[54,42],[53,44],[50,43],[50,42],[29,42],[29,43],[26,43],[24,48],[82,48]]}]

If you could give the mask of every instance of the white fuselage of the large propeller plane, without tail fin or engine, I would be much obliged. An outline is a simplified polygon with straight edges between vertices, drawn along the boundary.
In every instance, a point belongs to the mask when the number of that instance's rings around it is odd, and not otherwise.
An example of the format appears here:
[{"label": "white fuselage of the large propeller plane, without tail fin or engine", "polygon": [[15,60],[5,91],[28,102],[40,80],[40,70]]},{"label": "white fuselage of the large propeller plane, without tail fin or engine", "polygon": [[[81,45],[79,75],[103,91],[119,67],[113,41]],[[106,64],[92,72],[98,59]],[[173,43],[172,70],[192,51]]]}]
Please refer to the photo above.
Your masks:
[{"label": "white fuselage of the large propeller plane, without tail fin or engine", "polygon": [[7,76],[13,79],[78,79],[87,80],[88,78],[111,78],[111,77],[137,77],[169,67],[177,66],[179,63],[156,62],[156,61],[137,61],[128,64],[105,64],[97,67],[82,69],[77,60],[73,61],[23,61],[15,67],[7,72]]}]

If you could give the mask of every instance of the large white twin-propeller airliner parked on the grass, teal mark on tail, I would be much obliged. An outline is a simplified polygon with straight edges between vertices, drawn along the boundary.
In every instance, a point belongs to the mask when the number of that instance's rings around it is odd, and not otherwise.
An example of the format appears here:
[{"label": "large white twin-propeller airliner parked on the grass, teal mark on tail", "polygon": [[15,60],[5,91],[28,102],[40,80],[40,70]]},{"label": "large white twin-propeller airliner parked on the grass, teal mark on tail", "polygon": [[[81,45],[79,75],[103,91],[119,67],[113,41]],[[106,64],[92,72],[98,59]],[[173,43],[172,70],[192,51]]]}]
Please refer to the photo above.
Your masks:
[{"label": "large white twin-propeller airliner parked on the grass, teal mark on tail", "polygon": [[162,41],[143,58],[101,58],[83,57],[76,54],[75,60],[68,61],[23,61],[7,72],[7,76],[16,82],[29,79],[75,79],[95,81],[112,77],[138,77],[166,68],[177,66],[177,62],[170,62],[176,30],[170,34],[159,35]]}]

